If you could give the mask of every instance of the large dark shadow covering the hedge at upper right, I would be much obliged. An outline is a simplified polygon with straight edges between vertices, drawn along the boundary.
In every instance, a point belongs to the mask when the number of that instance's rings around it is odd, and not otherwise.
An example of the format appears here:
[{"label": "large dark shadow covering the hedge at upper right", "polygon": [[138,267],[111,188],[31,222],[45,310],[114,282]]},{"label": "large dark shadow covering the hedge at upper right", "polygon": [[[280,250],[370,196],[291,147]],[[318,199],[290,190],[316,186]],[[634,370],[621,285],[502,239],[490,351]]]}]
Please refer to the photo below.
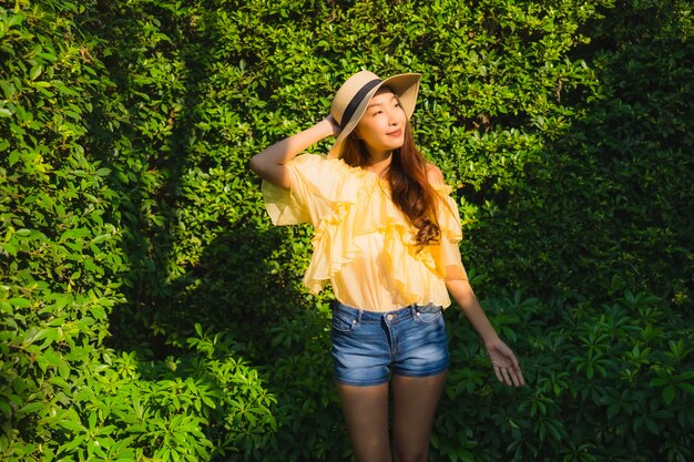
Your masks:
[{"label": "large dark shadow covering the hedge at upper right", "polygon": [[469,198],[499,208],[463,246],[489,268],[491,287],[595,300],[629,288],[691,307],[692,23],[684,2],[619,8],[573,52],[595,69],[593,95],[562,99],[573,122],[557,133],[541,127],[543,162],[511,196]]}]

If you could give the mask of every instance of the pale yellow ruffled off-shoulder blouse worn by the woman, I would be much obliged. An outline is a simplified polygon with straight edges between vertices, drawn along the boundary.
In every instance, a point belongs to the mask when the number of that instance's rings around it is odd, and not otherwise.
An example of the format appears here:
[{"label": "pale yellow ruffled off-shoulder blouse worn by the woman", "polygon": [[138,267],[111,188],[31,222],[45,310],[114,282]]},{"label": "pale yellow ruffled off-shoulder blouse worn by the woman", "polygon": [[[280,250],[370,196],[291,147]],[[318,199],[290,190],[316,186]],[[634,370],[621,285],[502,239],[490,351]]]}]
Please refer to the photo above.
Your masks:
[{"label": "pale yellow ruffled off-shoulder blouse worn by the woman", "polygon": [[458,243],[460,216],[450,187],[441,201],[439,244],[418,251],[415,228],[390,199],[388,182],[338,158],[304,154],[287,164],[290,189],[263,182],[275,225],[309,223],[314,253],[304,276],[313,294],[329,280],[343,304],[390,311],[411,304],[450,305],[446,279],[467,279]]}]

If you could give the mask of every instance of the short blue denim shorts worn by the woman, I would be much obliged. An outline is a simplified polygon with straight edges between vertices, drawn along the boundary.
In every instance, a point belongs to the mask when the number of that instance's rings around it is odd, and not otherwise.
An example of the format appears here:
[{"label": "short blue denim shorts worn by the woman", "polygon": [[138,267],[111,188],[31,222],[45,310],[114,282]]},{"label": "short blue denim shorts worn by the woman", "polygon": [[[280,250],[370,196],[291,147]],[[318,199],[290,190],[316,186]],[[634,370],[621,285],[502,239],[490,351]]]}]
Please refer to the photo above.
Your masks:
[{"label": "short blue denim shorts worn by the woman", "polygon": [[390,372],[436,376],[448,369],[441,307],[410,305],[376,312],[333,304],[333,369],[338,383],[385,383]]}]

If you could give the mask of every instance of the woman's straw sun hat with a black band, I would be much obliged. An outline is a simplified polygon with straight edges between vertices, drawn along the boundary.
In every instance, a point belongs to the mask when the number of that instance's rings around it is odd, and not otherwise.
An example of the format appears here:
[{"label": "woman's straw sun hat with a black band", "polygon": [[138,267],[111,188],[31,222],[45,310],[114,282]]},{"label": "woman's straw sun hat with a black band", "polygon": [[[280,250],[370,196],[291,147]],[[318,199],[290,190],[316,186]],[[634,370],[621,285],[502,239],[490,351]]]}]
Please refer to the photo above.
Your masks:
[{"label": "woman's straw sun hat with a black band", "polygon": [[337,157],[339,155],[343,142],[355,130],[369,101],[381,86],[388,86],[392,90],[400,100],[407,119],[411,117],[417,103],[420,76],[420,74],[408,73],[382,80],[372,72],[360,71],[347,79],[335,94],[330,107],[330,114],[341,131],[330,148],[328,157]]}]

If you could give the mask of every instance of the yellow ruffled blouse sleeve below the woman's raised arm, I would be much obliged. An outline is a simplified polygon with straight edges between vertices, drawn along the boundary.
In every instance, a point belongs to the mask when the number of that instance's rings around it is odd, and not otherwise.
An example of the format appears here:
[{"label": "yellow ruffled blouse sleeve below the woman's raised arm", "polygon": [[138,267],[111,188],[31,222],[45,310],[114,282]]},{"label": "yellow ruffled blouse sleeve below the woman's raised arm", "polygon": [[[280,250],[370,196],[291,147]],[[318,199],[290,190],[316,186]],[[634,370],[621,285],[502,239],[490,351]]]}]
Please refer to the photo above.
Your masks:
[{"label": "yellow ruffled blouse sleeve below the woman's raised arm", "polygon": [[343,161],[303,154],[287,164],[289,189],[263,182],[265,208],[275,225],[309,223],[317,226],[340,197],[354,194],[350,167]]}]

